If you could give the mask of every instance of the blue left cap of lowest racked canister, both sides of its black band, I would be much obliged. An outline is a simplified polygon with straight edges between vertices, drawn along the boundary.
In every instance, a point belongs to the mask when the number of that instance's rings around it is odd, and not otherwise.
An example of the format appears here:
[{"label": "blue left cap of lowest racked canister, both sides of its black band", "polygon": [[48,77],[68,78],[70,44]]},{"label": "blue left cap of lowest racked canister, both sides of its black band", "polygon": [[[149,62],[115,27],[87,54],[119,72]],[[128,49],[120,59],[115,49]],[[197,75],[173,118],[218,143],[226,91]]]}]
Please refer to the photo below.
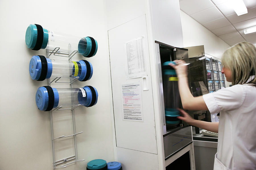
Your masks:
[{"label": "blue left cap of lowest racked canister, both sides of its black band", "polygon": [[[56,108],[59,104],[59,93],[57,89],[52,88],[54,94],[54,105],[53,108]],[[36,105],[39,110],[45,111],[49,104],[48,91],[45,87],[39,87],[36,91]]]}]

